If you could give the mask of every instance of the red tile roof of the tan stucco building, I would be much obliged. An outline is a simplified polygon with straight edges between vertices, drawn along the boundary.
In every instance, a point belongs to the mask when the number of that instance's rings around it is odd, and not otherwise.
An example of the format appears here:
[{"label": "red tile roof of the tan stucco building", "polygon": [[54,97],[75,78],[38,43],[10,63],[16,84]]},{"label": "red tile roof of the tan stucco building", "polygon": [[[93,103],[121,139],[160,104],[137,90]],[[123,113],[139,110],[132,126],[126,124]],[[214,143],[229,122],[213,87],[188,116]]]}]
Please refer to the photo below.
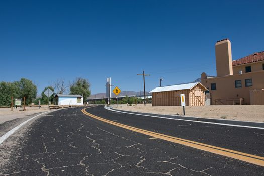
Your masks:
[{"label": "red tile roof of the tan stucco building", "polygon": [[232,64],[233,64],[233,66],[236,66],[236,65],[246,64],[246,63],[258,62],[258,61],[262,61],[262,60],[264,60],[264,51],[256,52],[254,54],[243,57],[241,59],[234,60],[232,62]]}]

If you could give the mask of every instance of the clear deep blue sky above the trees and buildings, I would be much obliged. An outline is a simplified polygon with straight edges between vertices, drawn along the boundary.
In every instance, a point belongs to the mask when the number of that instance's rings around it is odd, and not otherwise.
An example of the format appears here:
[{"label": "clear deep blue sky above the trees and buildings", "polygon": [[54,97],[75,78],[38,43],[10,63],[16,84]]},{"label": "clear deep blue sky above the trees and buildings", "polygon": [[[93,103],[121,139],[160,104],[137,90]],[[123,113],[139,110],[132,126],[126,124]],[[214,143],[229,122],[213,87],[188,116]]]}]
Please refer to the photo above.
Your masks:
[{"label": "clear deep blue sky above the trees and buildings", "polygon": [[31,79],[40,93],[64,78],[146,90],[216,74],[216,41],[233,60],[264,50],[263,1],[1,1],[0,81]]}]

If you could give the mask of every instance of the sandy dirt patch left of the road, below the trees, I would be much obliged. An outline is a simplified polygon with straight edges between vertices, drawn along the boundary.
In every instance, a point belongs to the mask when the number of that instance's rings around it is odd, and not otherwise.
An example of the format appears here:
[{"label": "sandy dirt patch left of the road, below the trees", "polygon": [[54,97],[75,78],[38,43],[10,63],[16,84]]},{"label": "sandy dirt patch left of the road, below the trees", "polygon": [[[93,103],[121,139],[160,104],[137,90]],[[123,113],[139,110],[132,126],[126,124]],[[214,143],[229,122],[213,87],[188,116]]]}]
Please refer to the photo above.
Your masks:
[{"label": "sandy dirt patch left of the road, below the trees", "polygon": [[17,118],[23,118],[27,115],[49,111],[48,107],[40,109],[39,107],[26,107],[25,109],[26,111],[22,111],[23,108],[18,107],[17,109],[13,108],[13,111],[11,111],[11,108],[0,108],[0,124]]}]

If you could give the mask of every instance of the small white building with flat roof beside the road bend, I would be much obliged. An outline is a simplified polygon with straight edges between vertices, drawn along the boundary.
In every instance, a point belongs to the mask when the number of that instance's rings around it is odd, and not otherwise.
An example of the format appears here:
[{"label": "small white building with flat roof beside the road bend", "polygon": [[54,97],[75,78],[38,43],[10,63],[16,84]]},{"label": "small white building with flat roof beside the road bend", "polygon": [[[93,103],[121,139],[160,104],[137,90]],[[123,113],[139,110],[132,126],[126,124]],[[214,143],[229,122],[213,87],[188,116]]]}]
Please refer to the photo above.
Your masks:
[{"label": "small white building with flat roof beside the road bend", "polygon": [[83,97],[78,94],[56,94],[54,96],[54,105],[83,105]]}]

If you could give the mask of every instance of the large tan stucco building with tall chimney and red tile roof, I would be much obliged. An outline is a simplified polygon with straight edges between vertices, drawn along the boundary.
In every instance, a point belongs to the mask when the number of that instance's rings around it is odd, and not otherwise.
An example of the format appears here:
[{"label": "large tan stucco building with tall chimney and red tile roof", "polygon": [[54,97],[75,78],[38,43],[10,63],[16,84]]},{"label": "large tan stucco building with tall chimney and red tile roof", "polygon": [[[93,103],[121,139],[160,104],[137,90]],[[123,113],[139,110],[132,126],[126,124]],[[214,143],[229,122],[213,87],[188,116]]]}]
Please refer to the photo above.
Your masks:
[{"label": "large tan stucco building with tall chimney and red tile roof", "polygon": [[201,74],[211,105],[264,104],[264,51],[232,61],[228,39],[215,44],[217,76]]}]

